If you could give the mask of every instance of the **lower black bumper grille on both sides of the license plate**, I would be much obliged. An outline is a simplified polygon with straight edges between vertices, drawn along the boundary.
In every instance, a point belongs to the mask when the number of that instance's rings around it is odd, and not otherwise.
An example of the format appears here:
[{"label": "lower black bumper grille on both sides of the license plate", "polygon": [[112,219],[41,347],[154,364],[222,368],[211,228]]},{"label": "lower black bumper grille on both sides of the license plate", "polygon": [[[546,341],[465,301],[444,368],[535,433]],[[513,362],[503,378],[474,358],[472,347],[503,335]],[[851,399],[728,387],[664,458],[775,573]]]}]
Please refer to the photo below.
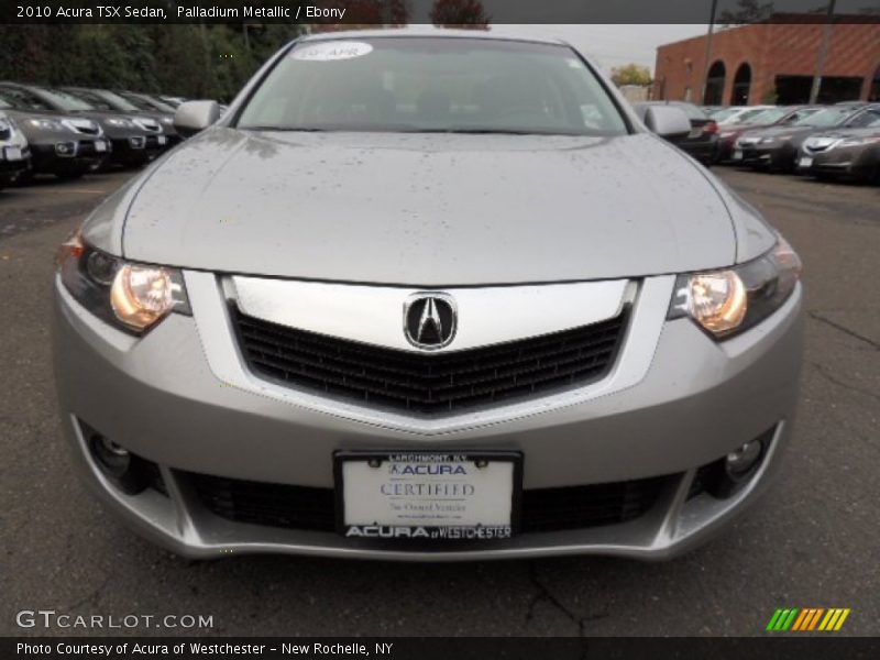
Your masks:
[{"label": "lower black bumper grille on both sides of the license plate", "polygon": [[[186,475],[210,512],[235,522],[311,531],[336,529],[332,488]],[[562,531],[632,520],[650,509],[672,477],[522,492],[522,532]]]}]

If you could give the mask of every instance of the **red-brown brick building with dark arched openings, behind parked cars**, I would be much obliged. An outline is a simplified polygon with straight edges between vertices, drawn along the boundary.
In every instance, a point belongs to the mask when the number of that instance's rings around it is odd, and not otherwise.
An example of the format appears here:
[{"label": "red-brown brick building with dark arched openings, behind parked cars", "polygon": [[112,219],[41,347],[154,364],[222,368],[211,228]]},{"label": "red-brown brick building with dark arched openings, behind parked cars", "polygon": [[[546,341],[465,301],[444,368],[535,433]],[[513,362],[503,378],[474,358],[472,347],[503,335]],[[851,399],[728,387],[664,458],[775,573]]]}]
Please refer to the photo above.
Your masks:
[{"label": "red-brown brick building with dark arched openings, behind parked cars", "polygon": [[[880,23],[867,16],[835,19],[818,100],[880,101]],[[653,98],[706,106],[804,103],[825,30],[815,20],[776,15],[771,22],[716,31],[705,99],[706,36],[660,46]]]}]

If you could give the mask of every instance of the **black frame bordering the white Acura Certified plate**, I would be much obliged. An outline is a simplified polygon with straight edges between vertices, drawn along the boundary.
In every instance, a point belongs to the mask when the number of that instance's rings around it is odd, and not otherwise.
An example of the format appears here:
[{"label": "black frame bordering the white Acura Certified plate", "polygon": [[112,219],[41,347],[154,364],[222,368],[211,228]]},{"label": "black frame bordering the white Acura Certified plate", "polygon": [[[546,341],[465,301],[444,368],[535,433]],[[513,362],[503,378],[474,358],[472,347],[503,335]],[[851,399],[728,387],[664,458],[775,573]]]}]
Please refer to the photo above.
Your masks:
[{"label": "black frame bordering the white Acura Certified plate", "polygon": [[[427,520],[410,519],[404,517],[399,519],[389,519],[388,516],[394,516],[391,513],[391,503],[386,502],[387,509],[384,512],[376,512],[376,518],[372,522],[363,520],[349,521],[346,518],[346,485],[351,493],[352,482],[346,484],[346,479],[351,479],[351,473],[346,474],[346,464],[366,463],[378,461],[380,468],[372,468],[372,470],[387,470],[391,465],[457,465],[457,464],[473,464],[476,469],[477,462],[485,462],[486,466],[491,464],[509,465],[509,520],[507,525],[499,524],[464,524],[457,525],[452,519],[437,524],[437,521],[428,522]],[[387,468],[386,468],[387,465]],[[382,473],[380,473],[381,475]],[[392,539],[395,541],[460,541],[460,540],[494,540],[512,538],[519,532],[519,520],[522,501],[522,453],[518,451],[483,451],[483,450],[382,450],[382,451],[359,451],[359,450],[343,450],[333,453],[333,479],[334,479],[334,497],[336,497],[336,522],[337,532],[344,537],[367,537],[378,539]],[[382,476],[373,479],[382,480]],[[386,476],[384,479],[391,479]],[[424,476],[421,479],[425,479]],[[441,477],[429,475],[427,481],[431,483],[439,483]],[[398,481],[404,481],[399,479]],[[391,483],[391,482],[388,482]],[[363,484],[361,484],[363,487]],[[359,491],[360,492],[360,491]],[[499,491],[494,494],[499,499],[506,498],[506,493]],[[378,498],[391,498],[391,495],[381,495]],[[428,498],[431,503],[444,502],[442,497]],[[361,499],[359,499],[359,503]],[[411,502],[411,501],[405,501]],[[476,499],[469,501],[468,504],[477,503]],[[458,505],[457,505],[458,506]],[[479,506],[479,504],[477,504]],[[356,514],[354,514],[356,515]],[[416,514],[418,516],[419,514]],[[454,514],[452,514],[454,516]]]}]

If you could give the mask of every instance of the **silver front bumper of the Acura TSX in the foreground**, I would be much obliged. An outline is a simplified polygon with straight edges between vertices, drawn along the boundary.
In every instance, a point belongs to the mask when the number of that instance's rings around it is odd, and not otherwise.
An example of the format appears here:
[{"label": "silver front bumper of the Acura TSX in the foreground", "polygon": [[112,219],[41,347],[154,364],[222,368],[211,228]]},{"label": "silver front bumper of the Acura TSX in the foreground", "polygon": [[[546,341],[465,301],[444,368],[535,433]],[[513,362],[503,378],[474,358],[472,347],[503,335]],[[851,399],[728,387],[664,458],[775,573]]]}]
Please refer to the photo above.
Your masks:
[{"label": "silver front bumper of the Acura TSX in the foreground", "polygon": [[[210,294],[190,286],[195,279],[187,280],[195,316],[173,315],[140,340],[92,317],[56,280],[54,341],[63,428],[77,465],[100,497],[140,534],[187,557],[667,558],[723,527],[777,472],[796,402],[803,324],[799,286],[772,317],[717,344],[688,320],[663,321],[673,279],[654,277],[642,284],[634,326],[608,376],[614,381],[628,369],[628,353],[637,352],[644,340],[635,329],[653,323],[660,331],[637,382],[615,392],[598,384],[595,396],[580,403],[531,407],[491,424],[488,417],[481,424],[476,416],[457,428],[426,426],[422,431],[416,422],[353,419],[342,410],[314,409],[218,378],[209,358],[216,345],[208,345],[212,339],[207,333],[222,334],[229,328],[212,317],[215,309],[205,298]],[[80,422],[157,463],[162,487],[134,496],[118,491],[90,458]],[[701,466],[768,430],[772,442],[744,488],[726,499],[692,491]],[[342,538],[330,530],[232,520],[206,505],[194,476],[327,493],[333,486],[333,452],[389,449],[520,451],[527,493],[663,481],[646,512],[619,524],[413,548]]]}]

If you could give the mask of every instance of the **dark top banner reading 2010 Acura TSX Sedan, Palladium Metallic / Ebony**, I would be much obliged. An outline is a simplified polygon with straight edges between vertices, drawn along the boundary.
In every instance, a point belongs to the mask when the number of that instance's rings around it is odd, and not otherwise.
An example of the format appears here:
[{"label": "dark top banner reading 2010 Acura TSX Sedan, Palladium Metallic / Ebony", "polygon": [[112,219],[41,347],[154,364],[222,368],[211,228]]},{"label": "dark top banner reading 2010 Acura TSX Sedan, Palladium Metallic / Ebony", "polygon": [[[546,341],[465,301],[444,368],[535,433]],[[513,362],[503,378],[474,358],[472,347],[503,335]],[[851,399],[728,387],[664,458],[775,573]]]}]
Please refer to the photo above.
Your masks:
[{"label": "dark top banner reading 2010 Acura TSX Sedan, Palladium Metallic / Ebony", "polygon": [[[404,25],[824,23],[828,0],[3,0],[0,23]],[[836,0],[836,23],[880,24],[872,0]]]}]

